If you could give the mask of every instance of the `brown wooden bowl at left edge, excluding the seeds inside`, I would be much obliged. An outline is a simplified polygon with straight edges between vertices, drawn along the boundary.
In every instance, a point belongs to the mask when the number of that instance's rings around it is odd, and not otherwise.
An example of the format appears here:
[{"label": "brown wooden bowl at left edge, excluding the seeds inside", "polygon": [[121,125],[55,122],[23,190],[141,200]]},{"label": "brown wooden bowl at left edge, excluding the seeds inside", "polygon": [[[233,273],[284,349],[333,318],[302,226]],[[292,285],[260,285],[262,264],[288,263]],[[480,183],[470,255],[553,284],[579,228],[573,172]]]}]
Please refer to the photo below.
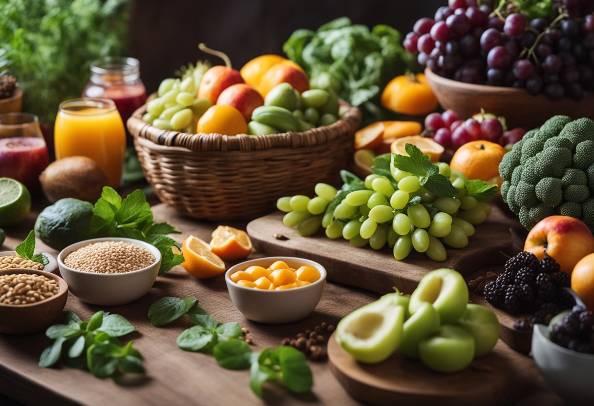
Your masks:
[{"label": "brown wooden bowl at left edge, excluding the seeds inside", "polygon": [[61,321],[62,310],[68,299],[68,284],[58,275],[34,269],[3,269],[0,275],[43,275],[58,282],[58,294],[30,305],[4,305],[0,303],[0,332],[5,334],[31,334],[45,331],[50,325]]}]

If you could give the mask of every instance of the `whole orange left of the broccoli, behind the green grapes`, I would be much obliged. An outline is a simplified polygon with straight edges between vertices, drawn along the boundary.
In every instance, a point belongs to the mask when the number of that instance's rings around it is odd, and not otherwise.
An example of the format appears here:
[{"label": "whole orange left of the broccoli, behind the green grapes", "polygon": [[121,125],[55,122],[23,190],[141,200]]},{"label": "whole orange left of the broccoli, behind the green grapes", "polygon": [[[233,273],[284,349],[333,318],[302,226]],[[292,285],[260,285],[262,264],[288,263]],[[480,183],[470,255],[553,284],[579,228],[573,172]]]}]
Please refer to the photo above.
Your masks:
[{"label": "whole orange left of the broccoli, behind the green grapes", "polygon": [[489,183],[500,183],[499,164],[505,149],[489,141],[471,141],[458,148],[451,158],[451,169],[459,170],[468,179],[481,179]]}]

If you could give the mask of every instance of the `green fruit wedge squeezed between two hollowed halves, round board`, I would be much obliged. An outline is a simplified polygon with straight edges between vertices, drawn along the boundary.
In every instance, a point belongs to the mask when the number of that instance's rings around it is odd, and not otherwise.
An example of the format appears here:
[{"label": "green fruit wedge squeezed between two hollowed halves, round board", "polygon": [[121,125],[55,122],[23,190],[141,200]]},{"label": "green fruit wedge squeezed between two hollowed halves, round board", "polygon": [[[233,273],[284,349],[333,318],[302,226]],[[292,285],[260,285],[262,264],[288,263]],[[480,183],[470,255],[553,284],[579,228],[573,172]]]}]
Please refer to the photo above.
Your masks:
[{"label": "green fruit wedge squeezed between two hollowed halves, round board", "polygon": [[406,357],[419,357],[419,342],[431,337],[440,328],[440,315],[431,303],[422,303],[416,313],[405,321],[398,351]]}]

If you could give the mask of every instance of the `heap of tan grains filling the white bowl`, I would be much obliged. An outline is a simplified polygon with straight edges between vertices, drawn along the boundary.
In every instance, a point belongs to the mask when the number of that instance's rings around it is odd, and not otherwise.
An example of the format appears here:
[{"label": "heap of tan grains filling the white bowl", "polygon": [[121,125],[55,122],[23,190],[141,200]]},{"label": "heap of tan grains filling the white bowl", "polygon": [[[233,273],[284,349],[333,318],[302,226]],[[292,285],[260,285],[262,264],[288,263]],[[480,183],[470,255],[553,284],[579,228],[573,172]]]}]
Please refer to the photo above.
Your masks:
[{"label": "heap of tan grains filling the white bowl", "polygon": [[64,258],[67,267],[96,274],[122,274],[153,264],[153,254],[125,241],[103,241],[86,245]]}]

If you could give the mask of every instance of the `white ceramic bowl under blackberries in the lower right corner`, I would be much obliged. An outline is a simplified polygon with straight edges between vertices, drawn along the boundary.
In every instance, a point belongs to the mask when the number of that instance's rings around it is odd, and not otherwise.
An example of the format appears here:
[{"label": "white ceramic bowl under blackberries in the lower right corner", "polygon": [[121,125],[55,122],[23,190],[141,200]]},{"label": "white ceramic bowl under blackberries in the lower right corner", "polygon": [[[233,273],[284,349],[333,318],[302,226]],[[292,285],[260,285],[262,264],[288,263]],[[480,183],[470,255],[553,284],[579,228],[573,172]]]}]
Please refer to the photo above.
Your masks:
[{"label": "white ceramic bowl under blackberries in the lower right corner", "polygon": [[546,383],[568,404],[594,404],[594,355],[568,350],[548,337],[548,326],[534,325],[532,357]]}]

